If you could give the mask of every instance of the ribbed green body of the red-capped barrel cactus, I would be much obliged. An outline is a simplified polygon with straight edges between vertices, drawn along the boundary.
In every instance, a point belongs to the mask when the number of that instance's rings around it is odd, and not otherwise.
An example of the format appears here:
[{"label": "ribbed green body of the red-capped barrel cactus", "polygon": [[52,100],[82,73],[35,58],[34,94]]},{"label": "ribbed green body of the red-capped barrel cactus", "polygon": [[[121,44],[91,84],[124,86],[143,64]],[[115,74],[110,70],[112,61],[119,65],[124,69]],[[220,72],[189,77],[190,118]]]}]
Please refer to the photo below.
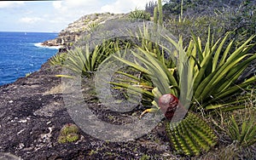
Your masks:
[{"label": "ribbed green body of the red-capped barrel cactus", "polygon": [[180,123],[166,123],[172,146],[185,155],[199,155],[217,143],[217,136],[201,117],[189,111]]}]

